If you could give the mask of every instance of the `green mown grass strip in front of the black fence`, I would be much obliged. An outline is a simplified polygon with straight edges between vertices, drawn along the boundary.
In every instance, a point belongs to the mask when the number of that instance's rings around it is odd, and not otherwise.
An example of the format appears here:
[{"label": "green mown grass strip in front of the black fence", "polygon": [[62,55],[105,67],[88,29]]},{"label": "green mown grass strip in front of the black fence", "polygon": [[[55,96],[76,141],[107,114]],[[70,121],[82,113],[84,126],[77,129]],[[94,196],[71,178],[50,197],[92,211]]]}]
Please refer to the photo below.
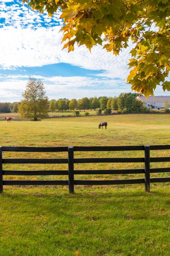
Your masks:
[{"label": "green mown grass strip in front of the black fence", "polygon": [[138,186],[5,189],[2,256],[169,256],[170,192]]}]

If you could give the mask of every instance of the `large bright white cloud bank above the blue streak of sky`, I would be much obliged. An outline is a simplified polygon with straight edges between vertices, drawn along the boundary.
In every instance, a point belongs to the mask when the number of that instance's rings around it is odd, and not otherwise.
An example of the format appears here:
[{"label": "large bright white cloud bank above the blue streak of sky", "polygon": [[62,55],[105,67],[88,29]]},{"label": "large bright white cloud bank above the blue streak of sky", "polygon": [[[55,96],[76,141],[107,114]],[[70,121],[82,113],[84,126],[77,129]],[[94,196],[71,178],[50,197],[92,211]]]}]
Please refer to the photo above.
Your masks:
[{"label": "large bright white cloud bank above the blue streak of sky", "polygon": [[102,47],[94,47],[90,53],[86,47],[75,47],[74,52],[62,50],[60,27],[40,27],[0,29],[0,65],[8,67],[36,67],[54,63],[68,63],[89,70],[105,70],[100,76],[125,79],[128,74],[129,49],[119,56],[106,52]]}]

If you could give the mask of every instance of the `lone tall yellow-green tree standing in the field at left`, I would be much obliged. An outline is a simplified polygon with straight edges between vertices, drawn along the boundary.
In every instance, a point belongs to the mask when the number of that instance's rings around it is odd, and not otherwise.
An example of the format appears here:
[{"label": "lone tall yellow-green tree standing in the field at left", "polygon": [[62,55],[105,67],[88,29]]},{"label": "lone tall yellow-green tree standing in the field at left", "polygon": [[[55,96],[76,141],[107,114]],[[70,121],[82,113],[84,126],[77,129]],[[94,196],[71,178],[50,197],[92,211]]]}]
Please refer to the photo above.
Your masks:
[{"label": "lone tall yellow-green tree standing in the field at left", "polygon": [[48,97],[45,96],[45,87],[42,81],[30,77],[23,93],[23,100],[18,105],[18,112],[23,118],[46,118],[48,117]]}]

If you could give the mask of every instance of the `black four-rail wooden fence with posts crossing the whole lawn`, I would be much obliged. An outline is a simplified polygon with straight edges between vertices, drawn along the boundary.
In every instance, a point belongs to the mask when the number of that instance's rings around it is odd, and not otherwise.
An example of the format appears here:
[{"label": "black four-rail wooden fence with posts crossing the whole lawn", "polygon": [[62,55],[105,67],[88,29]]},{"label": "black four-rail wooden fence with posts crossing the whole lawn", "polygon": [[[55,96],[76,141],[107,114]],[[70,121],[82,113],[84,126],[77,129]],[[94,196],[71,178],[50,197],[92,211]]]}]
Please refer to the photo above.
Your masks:
[{"label": "black four-rail wooden fence with posts crossing the whole lawn", "polygon": [[[150,183],[170,182],[168,178],[150,178],[150,173],[170,172],[170,168],[150,169],[150,163],[170,162],[170,157],[150,157],[150,150],[167,150],[170,145],[141,146],[93,146],[93,147],[0,147],[0,192],[3,185],[68,185],[74,193],[74,185],[115,185],[144,183],[145,191],[150,191]],[[61,159],[6,159],[3,152],[68,152],[68,158]],[[74,158],[74,151],[144,151],[144,157],[135,158]],[[65,171],[9,171],[3,164],[68,164]],[[121,170],[74,170],[74,163],[144,163],[143,169]],[[75,180],[74,175],[144,174],[142,179],[128,180]],[[3,180],[3,175],[68,175],[68,180]]]}]

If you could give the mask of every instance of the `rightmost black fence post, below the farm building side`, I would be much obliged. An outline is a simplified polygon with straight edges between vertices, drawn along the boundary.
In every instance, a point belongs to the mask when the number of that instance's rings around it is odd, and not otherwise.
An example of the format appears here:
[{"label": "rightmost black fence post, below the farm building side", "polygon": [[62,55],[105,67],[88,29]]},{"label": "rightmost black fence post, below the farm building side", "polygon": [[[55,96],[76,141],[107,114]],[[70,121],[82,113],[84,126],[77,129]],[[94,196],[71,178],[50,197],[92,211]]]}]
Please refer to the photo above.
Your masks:
[{"label": "rightmost black fence post, below the farm building side", "polygon": [[150,146],[144,146],[144,189],[150,192]]}]

